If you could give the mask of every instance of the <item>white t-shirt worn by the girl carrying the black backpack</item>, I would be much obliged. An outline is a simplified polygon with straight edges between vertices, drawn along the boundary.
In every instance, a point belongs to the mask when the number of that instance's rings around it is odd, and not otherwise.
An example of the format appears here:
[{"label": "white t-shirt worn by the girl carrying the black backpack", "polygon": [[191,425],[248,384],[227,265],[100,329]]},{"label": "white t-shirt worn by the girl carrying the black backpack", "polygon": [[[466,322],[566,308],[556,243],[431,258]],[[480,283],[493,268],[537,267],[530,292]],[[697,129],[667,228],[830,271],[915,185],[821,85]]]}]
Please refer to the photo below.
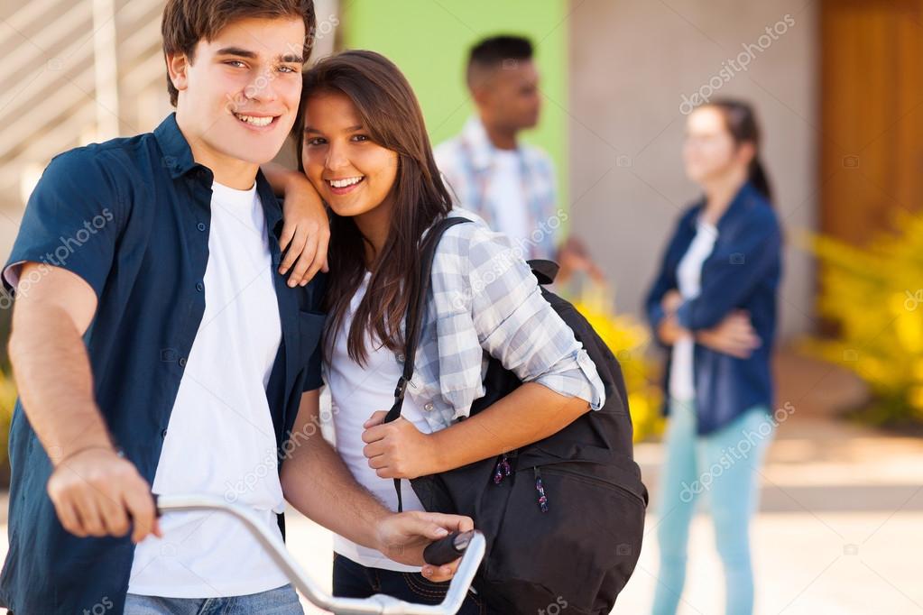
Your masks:
[{"label": "white t-shirt worn by the girl carrying the black backpack", "polygon": [[[356,290],[342,325],[337,331],[330,361],[324,361],[324,382],[330,388],[333,426],[336,430],[337,452],[346,467],[353,473],[356,482],[365,487],[390,510],[398,509],[397,493],[394,491],[393,479],[380,479],[375,470],[368,466],[362,441],[363,423],[376,410],[388,410],[394,405],[394,386],[403,372],[403,364],[398,362],[394,353],[380,343],[371,343],[366,335],[368,361],[363,367],[354,362],[346,348],[346,337],[359,302],[366,294],[371,274],[366,272]],[[421,432],[431,430],[423,414],[410,396],[404,397],[401,416],[414,423]],[[422,511],[423,504],[416,497],[409,480],[401,481],[402,503],[404,511]],[[334,536],[333,550],[354,562],[370,568],[383,568],[398,572],[420,572],[420,567],[393,562],[380,551],[368,549],[341,536]]]}]

